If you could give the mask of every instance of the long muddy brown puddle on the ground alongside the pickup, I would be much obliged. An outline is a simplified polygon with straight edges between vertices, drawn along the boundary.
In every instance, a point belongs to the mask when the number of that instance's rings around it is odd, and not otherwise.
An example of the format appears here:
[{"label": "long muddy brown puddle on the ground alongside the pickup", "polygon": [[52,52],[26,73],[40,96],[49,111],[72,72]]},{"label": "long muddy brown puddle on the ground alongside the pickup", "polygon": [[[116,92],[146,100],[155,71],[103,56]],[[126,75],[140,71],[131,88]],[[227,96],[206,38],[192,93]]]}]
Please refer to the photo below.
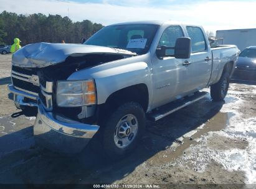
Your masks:
[{"label": "long muddy brown puddle on the ground alongside the pickup", "polygon": [[221,131],[229,124],[229,119],[234,115],[234,113],[217,113],[214,117],[209,119],[201,126],[187,132],[179,139],[176,139],[178,142],[173,142],[168,149],[158,152],[158,154],[151,157],[148,160],[149,164],[161,165],[164,163],[173,162],[175,159],[186,155],[184,150],[186,150],[192,144],[199,142],[199,140],[197,140],[198,138],[211,131]]}]

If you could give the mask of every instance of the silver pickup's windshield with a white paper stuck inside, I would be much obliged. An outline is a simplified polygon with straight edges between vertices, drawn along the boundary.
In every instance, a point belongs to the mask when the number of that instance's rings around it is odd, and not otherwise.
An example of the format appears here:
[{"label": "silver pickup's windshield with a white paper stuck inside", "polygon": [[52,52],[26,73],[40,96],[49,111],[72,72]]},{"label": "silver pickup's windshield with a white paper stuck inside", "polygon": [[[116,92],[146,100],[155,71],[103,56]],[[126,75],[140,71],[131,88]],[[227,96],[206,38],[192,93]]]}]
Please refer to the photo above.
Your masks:
[{"label": "silver pickup's windshield with a white paper stuck inside", "polygon": [[126,24],[104,27],[84,44],[130,50],[138,55],[148,52],[159,25]]}]

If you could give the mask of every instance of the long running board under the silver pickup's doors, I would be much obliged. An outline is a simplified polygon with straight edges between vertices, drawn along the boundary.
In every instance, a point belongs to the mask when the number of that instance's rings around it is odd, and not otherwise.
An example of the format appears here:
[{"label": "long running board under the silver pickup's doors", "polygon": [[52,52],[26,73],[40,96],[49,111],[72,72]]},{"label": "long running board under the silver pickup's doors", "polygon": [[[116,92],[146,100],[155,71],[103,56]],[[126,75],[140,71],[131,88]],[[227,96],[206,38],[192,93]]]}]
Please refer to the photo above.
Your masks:
[{"label": "long running board under the silver pickup's doors", "polygon": [[189,104],[192,104],[199,99],[204,98],[208,93],[207,92],[197,92],[195,94],[192,94],[192,96],[186,96],[183,99],[179,99],[177,101],[173,101],[171,103],[165,104],[164,106],[159,107],[158,111],[154,113],[149,113],[148,118],[151,121],[158,121],[161,118],[164,118],[165,116],[168,116],[171,113],[174,113],[174,111],[177,111],[181,108],[184,108],[185,106],[188,106]]}]

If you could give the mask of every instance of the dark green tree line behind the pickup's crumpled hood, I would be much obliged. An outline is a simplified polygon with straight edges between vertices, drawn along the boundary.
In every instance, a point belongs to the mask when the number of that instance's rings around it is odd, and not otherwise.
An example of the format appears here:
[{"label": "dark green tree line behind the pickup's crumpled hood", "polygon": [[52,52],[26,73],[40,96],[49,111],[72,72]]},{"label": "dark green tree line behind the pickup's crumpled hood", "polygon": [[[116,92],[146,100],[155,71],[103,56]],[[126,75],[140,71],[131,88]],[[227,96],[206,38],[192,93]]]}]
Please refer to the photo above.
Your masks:
[{"label": "dark green tree line behind the pickup's crumpled hood", "polygon": [[79,44],[82,39],[88,39],[102,24],[88,20],[73,22],[69,17],[58,14],[16,14],[3,11],[0,14],[0,44],[13,44],[14,38],[19,38],[21,45],[36,42]]}]

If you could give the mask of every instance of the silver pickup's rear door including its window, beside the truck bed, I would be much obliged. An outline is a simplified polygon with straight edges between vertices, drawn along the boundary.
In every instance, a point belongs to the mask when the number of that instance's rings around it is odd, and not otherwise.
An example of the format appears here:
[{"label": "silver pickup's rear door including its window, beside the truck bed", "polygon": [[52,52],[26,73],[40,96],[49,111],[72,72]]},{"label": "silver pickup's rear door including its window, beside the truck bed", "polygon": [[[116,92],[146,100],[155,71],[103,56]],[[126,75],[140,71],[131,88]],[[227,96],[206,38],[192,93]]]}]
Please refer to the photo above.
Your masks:
[{"label": "silver pickup's rear door including its window, beside the truck bed", "polygon": [[191,58],[192,63],[189,72],[191,90],[201,90],[207,86],[211,76],[212,54],[211,47],[206,36],[200,27],[187,26],[188,37],[191,38]]}]

